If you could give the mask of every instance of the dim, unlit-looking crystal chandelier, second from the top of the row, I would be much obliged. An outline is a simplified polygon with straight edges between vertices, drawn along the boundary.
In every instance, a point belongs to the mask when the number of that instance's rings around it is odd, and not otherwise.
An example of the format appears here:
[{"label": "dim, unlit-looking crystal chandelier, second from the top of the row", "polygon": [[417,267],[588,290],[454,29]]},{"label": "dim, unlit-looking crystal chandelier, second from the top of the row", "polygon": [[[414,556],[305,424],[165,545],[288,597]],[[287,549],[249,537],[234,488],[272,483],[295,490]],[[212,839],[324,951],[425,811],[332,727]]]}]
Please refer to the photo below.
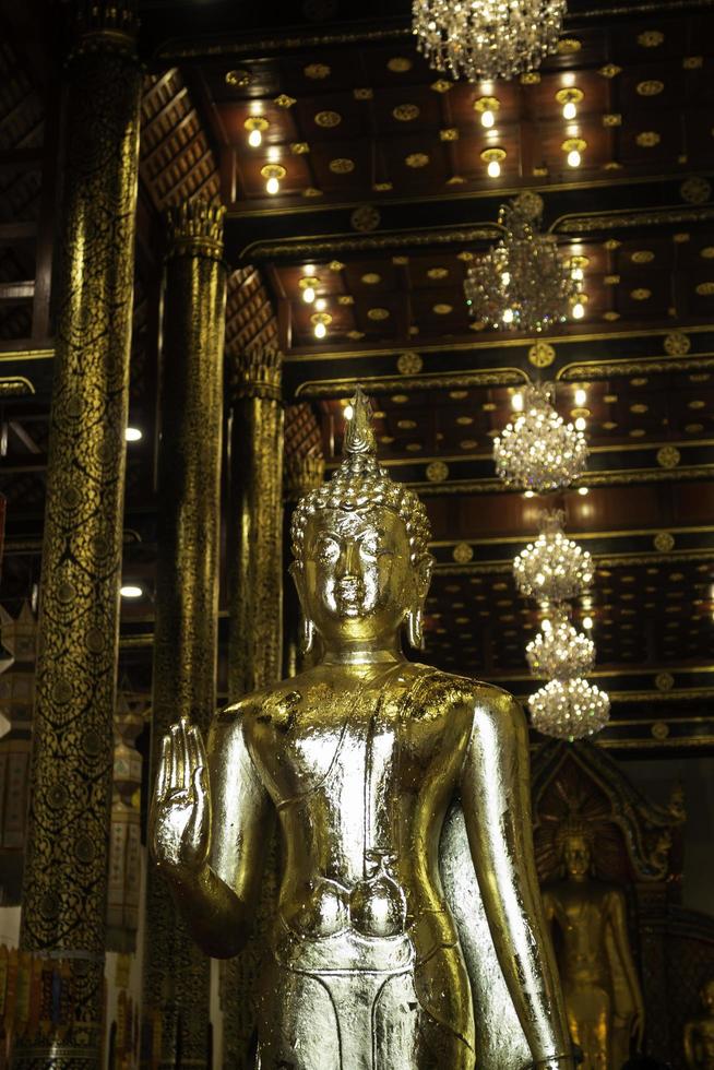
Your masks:
[{"label": "dim, unlit-looking crystal chandelier, second from the top of the row", "polygon": [[491,326],[539,333],[582,312],[583,272],[558,255],[555,235],[543,234],[543,200],[521,193],[501,205],[505,235],[468,269],[466,298],[476,320]]}]

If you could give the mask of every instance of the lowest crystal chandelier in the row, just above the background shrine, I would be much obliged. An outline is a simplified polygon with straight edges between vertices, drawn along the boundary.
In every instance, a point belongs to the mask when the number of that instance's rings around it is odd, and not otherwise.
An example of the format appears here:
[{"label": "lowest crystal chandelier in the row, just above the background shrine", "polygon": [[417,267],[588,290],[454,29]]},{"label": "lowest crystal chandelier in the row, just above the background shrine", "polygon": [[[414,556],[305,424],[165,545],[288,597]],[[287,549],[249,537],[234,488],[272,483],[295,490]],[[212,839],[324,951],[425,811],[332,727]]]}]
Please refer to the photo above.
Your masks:
[{"label": "lowest crystal chandelier in the row, just above the background shrine", "polygon": [[538,732],[558,739],[580,739],[607,724],[610,700],[594,683],[578,677],[550,680],[531,696],[528,706]]}]

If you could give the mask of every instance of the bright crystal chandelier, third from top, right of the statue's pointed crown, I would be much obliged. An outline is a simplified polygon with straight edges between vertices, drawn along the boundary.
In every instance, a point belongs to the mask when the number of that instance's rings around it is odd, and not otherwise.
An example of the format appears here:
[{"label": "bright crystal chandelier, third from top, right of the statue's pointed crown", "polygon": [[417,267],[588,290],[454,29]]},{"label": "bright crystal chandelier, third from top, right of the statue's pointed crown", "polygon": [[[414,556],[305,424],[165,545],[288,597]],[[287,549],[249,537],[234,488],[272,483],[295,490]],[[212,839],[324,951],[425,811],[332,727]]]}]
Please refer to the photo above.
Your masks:
[{"label": "bright crystal chandelier, third from top, right of the statue's pointed crown", "polygon": [[554,396],[552,383],[525,387],[523,412],[495,439],[496,472],[507,487],[558,490],[585,471],[585,436],[558,415]]}]

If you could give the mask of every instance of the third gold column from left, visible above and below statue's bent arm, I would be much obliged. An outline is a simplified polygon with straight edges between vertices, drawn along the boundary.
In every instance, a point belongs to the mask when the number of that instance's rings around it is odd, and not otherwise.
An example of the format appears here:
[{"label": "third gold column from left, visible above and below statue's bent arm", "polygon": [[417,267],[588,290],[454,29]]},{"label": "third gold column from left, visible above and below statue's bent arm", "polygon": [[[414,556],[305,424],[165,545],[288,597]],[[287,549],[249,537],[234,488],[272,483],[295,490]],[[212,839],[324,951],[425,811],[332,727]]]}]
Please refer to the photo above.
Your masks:
[{"label": "third gold column from left, visible above and below statue's bent arm", "polygon": [[[253,350],[231,368],[228,518],[228,698],[279,679],[283,639],[282,356]],[[260,961],[277,902],[275,840],[269,852],[253,935],[223,972],[226,1070],[252,1067],[249,1054]]]}]

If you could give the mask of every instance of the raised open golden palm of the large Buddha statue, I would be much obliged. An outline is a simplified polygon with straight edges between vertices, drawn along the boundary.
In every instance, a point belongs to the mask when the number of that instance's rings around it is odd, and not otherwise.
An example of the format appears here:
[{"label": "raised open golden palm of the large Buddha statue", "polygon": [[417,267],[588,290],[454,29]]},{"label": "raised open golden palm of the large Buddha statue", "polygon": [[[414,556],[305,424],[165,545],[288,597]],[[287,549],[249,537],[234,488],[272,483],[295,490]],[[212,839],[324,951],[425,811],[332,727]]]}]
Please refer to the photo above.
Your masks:
[{"label": "raised open golden palm of the large Buddha statue", "polygon": [[175,871],[199,870],[211,843],[211,789],[201,733],[188,721],[171,725],[162,740],[150,819],[157,864]]}]

